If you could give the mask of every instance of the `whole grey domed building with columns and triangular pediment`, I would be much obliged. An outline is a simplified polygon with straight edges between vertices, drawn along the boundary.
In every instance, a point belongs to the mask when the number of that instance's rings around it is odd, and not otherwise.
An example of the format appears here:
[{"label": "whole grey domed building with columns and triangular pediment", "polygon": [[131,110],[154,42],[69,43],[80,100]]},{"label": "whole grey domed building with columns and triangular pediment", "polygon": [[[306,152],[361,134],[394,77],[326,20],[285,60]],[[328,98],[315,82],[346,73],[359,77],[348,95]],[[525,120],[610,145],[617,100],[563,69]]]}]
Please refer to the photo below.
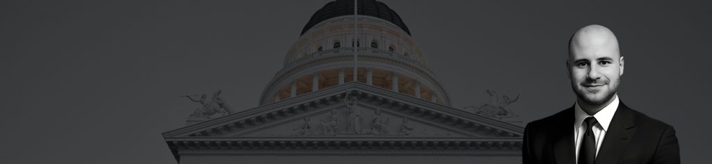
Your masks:
[{"label": "whole grey domed building with columns and triangular pediment", "polygon": [[258,107],[210,113],[216,100],[163,133],[179,163],[520,162],[523,128],[452,108],[404,21],[379,1],[316,11]]}]

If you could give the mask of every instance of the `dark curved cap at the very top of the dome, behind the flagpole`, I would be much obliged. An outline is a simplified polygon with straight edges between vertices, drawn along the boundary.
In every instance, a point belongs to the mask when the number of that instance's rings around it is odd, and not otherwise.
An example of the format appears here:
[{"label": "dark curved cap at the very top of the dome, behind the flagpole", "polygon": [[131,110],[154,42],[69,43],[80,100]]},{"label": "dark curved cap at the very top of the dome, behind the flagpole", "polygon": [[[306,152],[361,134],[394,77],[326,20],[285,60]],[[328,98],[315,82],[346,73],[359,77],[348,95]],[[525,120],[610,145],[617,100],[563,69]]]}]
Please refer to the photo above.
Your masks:
[{"label": "dark curved cap at the very top of the dome, behind the flagpole", "polygon": [[[302,33],[300,35],[303,35],[306,31],[311,29],[316,24],[321,23],[322,21],[326,21],[328,19],[332,19],[338,16],[353,15],[353,4],[354,3],[352,0],[336,0],[325,4],[321,9],[316,11],[314,15],[312,15],[312,17],[309,19],[309,22],[304,25],[304,29],[302,29]],[[383,2],[375,0],[359,0],[357,10],[359,15],[373,16],[379,19],[389,21],[392,24],[395,24],[396,26],[400,27],[400,29],[405,31],[406,34],[410,35],[408,26],[405,26],[405,23],[403,23],[403,20],[400,18],[400,16],[398,16],[398,14],[392,9],[390,9],[386,4],[383,4]]]}]

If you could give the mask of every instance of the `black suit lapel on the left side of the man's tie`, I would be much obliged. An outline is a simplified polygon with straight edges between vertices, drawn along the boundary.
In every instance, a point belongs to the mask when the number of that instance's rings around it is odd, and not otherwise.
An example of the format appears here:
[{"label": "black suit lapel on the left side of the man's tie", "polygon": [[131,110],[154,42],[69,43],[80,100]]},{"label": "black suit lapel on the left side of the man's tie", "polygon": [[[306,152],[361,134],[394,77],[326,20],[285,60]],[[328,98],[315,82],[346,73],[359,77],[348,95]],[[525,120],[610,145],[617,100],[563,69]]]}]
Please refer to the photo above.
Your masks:
[{"label": "black suit lapel on the left side of the man's tie", "polygon": [[553,151],[554,157],[557,164],[575,164],[575,148],[576,143],[574,143],[574,108],[568,108],[567,111],[563,113],[563,117],[560,119],[559,128],[560,134],[557,135],[559,138],[553,140]]}]

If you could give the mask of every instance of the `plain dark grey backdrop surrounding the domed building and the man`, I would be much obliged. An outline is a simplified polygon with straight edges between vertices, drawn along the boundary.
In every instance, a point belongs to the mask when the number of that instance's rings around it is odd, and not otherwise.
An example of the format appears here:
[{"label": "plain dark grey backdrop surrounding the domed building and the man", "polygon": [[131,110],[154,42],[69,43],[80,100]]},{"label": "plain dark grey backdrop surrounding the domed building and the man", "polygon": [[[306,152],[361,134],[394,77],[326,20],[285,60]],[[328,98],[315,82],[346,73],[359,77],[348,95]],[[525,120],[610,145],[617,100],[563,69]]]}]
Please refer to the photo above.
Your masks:
[{"label": "plain dark grey backdrop surrounding the domed building and the man", "polygon": [[[328,1],[0,1],[0,163],[175,163],[161,133],[223,89],[253,108]],[[683,163],[712,154],[711,5],[693,1],[384,1],[454,107],[521,93],[525,122],[572,106],[567,41],[617,34],[621,100],[673,125]]]}]

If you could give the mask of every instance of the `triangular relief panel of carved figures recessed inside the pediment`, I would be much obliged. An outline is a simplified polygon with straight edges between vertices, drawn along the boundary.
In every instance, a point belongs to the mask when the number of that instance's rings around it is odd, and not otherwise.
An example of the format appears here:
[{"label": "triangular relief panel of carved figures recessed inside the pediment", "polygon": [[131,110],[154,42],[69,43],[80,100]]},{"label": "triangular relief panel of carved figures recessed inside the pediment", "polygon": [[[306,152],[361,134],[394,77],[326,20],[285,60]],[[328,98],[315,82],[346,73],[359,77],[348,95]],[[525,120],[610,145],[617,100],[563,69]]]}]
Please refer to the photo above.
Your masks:
[{"label": "triangular relief panel of carved figures recessed inside the pediment", "polygon": [[[307,116],[291,118],[286,123],[236,134],[241,137],[471,137],[455,130],[437,127],[427,121],[368,106],[358,98],[345,98],[332,106]],[[410,116],[413,117],[413,116]]]}]

